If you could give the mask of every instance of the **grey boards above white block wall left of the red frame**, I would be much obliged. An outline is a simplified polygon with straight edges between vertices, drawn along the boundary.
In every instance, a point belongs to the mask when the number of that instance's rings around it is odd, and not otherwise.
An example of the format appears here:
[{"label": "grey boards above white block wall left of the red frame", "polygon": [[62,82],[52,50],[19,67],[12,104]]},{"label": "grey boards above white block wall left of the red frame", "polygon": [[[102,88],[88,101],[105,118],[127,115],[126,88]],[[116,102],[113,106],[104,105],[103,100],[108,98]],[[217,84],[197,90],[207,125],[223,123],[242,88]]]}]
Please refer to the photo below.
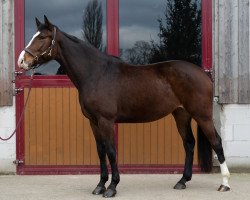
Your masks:
[{"label": "grey boards above white block wall left of the red frame", "polygon": [[[14,0],[0,1],[0,71],[3,93],[8,90],[12,95],[11,79],[14,71]],[[8,82],[6,82],[8,80]],[[5,89],[5,91],[3,91]],[[10,96],[12,98],[12,96]],[[2,105],[11,105],[4,103]],[[0,136],[8,137],[15,129],[15,102],[13,106],[0,107]],[[7,142],[0,141],[0,173],[15,172],[12,163],[16,158],[16,138]]]}]

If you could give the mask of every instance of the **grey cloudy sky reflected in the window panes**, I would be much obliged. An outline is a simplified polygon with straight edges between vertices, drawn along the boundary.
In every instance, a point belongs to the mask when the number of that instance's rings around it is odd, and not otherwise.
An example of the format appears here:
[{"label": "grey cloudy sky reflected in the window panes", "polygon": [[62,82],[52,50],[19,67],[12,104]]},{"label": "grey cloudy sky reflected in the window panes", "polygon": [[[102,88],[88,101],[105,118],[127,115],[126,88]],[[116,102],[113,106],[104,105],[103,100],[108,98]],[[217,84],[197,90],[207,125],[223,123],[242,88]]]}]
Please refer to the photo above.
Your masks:
[{"label": "grey cloudy sky reflected in the window panes", "polygon": [[[26,0],[26,43],[35,33],[34,18],[43,15],[63,31],[77,37],[81,35],[83,10],[89,0]],[[106,0],[101,0],[104,12],[104,35],[106,38]],[[164,12],[166,0],[120,0],[120,47],[129,48],[137,40],[150,41],[157,38],[157,18]],[[104,41],[105,43],[105,41]]]}]

